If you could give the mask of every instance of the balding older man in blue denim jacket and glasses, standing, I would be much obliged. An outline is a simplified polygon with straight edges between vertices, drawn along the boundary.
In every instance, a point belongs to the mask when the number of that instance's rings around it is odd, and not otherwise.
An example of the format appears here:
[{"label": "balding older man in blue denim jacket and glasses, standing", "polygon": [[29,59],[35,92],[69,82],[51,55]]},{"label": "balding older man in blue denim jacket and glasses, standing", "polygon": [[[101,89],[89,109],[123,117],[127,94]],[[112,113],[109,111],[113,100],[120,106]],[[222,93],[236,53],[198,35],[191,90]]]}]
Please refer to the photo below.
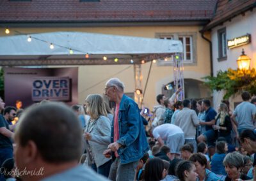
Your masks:
[{"label": "balding older man in blue denim jacket and glasses, standing", "polygon": [[138,105],[124,94],[124,83],[111,78],[106,83],[105,94],[116,103],[111,127],[111,144],[104,155],[115,161],[111,165],[110,180],[134,180],[138,161],[148,151],[147,137]]}]

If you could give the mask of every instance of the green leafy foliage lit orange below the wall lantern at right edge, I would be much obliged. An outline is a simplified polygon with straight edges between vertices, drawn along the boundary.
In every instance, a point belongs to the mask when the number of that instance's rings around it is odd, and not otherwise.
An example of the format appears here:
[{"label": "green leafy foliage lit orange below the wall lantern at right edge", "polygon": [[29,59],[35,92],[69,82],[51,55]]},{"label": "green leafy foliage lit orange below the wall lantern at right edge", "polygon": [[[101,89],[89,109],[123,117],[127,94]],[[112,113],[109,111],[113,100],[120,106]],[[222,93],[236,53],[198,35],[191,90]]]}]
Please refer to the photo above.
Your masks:
[{"label": "green leafy foliage lit orange below the wall lantern at right edge", "polygon": [[240,91],[249,91],[256,94],[256,71],[255,69],[242,71],[240,69],[228,69],[219,71],[217,76],[206,76],[205,84],[212,90],[225,91],[224,99]]}]

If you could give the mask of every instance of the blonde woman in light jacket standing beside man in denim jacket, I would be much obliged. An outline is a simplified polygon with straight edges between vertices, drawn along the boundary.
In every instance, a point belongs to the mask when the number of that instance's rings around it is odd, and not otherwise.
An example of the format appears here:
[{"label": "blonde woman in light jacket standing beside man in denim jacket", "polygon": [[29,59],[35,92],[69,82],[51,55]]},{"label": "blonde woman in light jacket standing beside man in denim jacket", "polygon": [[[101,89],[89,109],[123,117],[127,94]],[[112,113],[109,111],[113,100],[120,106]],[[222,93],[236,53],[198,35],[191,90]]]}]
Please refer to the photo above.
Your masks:
[{"label": "blonde woman in light jacket standing beside man in denim jacket", "polygon": [[111,135],[111,123],[104,105],[104,100],[99,94],[91,94],[85,99],[86,112],[90,115],[84,138],[86,140],[86,163],[95,171],[108,177],[111,158],[103,155],[108,148]]}]

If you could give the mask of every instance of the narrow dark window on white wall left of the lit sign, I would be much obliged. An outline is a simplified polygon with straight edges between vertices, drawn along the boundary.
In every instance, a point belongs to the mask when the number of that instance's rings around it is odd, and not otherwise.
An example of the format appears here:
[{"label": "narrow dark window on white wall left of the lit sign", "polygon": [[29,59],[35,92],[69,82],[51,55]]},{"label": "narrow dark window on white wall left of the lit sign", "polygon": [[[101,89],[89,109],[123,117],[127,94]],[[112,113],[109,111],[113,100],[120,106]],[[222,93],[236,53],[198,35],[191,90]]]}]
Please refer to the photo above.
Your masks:
[{"label": "narrow dark window on white wall left of the lit sign", "polygon": [[219,51],[218,61],[225,61],[225,60],[227,60],[227,34],[226,34],[226,28],[218,30],[218,51]]}]

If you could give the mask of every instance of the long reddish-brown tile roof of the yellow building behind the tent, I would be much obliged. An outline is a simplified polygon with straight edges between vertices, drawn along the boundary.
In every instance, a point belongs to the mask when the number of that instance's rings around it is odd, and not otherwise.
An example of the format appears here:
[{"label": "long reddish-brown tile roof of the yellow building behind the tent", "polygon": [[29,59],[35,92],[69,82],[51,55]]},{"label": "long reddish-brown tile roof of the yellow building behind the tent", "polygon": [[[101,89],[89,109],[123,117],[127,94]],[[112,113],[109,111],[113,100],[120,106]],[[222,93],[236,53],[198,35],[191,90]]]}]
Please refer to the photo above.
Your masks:
[{"label": "long reddish-brown tile roof of the yellow building behind the tent", "polygon": [[2,22],[152,22],[209,20],[217,0],[0,1]]}]

